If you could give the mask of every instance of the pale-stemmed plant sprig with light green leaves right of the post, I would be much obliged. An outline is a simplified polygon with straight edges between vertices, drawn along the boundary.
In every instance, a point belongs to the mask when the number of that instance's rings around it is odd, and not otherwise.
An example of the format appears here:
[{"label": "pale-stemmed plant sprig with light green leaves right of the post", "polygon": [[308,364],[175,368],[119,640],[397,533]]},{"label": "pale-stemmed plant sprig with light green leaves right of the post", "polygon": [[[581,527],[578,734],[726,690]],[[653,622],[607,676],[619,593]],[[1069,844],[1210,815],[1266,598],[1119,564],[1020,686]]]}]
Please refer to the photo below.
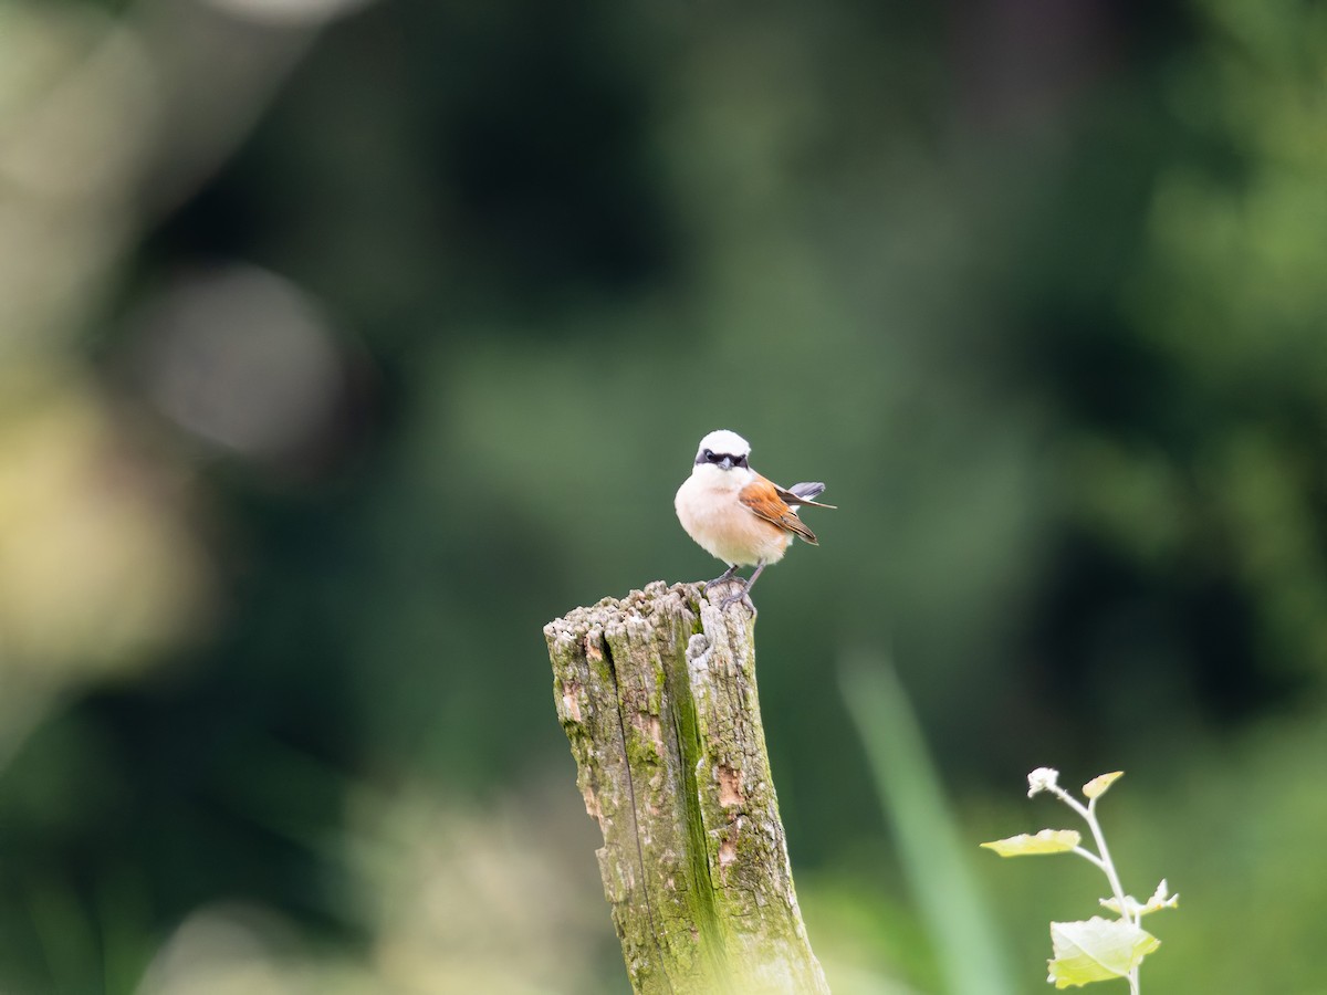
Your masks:
[{"label": "pale-stemmed plant sprig with light green leaves right of the post", "polygon": [[1147,902],[1125,894],[1120,884],[1120,876],[1105,845],[1105,834],[1096,819],[1096,803],[1123,775],[1123,771],[1113,771],[1084,784],[1083,797],[1087,804],[1059,785],[1059,771],[1038,767],[1027,775],[1027,796],[1035,797],[1046,791],[1074,809],[1087,823],[1096,844],[1095,852],[1083,846],[1083,834],[1076,829],[1042,829],[1035,834],[1020,833],[982,844],[1002,857],[1075,853],[1096,866],[1111,884],[1111,897],[1101,898],[1100,902],[1101,907],[1115,913],[1117,918],[1105,919],[1093,915],[1083,922],[1051,923],[1054,957],[1047,962],[1050,968],[1047,982],[1056,988],[1127,978],[1131,995],[1139,995],[1139,966],[1143,958],[1161,945],[1160,939],[1143,929],[1141,919],[1160,909],[1174,909],[1180,902],[1180,896],[1169,894],[1165,878]]}]

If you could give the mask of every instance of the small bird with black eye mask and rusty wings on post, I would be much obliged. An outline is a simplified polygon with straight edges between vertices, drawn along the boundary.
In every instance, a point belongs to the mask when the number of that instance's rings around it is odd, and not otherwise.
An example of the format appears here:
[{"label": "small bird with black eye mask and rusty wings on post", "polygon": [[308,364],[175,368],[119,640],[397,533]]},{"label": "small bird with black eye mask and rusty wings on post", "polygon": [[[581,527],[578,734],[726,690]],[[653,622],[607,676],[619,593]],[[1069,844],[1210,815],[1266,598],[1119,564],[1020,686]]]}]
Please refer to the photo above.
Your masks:
[{"label": "small bird with black eye mask and rusty wings on post", "polygon": [[705,585],[706,592],[730,580],[739,566],[755,566],[742,590],[721,605],[727,608],[740,600],[755,612],[750,593],[760,570],[783,559],[794,536],[819,545],[815,532],[798,517],[798,507],[833,505],[811,500],[825,490],[824,484],[779,487],[750,467],[750,455],[751,444],[736,432],[719,429],[706,435],[695,452],[691,476],[677,490],[673,507],[686,533],[729,565],[722,576]]}]

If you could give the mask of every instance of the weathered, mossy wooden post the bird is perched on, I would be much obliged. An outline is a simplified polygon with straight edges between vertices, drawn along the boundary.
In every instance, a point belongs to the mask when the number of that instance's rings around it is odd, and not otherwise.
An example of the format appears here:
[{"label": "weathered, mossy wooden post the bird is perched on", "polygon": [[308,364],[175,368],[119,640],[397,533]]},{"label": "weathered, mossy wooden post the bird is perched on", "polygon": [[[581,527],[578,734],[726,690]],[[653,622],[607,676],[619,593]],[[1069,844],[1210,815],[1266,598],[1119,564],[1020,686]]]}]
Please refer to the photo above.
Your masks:
[{"label": "weathered, mossy wooden post the bird is perched on", "polygon": [[740,604],[661,581],[544,628],[638,994],[829,991],[792,889],[754,633]]}]

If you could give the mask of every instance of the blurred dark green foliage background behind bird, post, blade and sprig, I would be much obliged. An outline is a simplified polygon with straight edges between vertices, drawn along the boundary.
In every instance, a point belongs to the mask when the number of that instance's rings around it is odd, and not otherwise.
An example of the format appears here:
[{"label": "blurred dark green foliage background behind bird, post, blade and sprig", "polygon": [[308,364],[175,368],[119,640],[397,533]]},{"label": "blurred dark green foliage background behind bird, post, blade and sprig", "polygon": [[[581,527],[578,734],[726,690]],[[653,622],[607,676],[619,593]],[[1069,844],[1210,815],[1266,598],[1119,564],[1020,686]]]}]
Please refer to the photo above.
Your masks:
[{"label": "blurred dark green foliage background behind bird, post, blade and sprig", "polygon": [[756,592],[836,992],[947,976],[849,658],[1016,991],[1043,764],[1145,988],[1323,991],[1324,316],[1322,4],[0,0],[0,991],[625,991],[541,626],[719,572],[717,427],[839,505]]}]

